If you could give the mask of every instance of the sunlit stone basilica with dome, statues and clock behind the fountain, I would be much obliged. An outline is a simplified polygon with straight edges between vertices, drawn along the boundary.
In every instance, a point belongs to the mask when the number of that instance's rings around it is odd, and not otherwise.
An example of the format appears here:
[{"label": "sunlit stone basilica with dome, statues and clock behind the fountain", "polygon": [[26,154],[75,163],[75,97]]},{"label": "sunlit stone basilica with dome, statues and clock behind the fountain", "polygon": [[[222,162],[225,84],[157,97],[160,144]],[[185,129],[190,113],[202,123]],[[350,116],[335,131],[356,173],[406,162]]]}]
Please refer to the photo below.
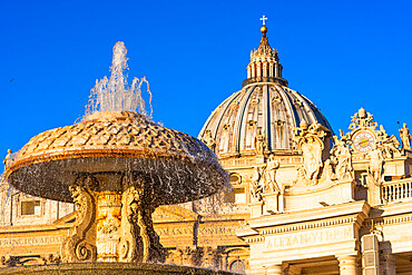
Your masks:
[{"label": "sunlit stone basilica with dome, statues and clock behind the fountain", "polygon": [[[278,52],[251,55],[247,81],[199,138],[230,173],[230,190],[160,206],[154,228],[167,264],[247,274],[411,274],[412,151],[361,108],[335,135],[287,87]],[[3,266],[60,261],[76,209],[1,185]],[[114,252],[116,253],[116,252]]]}]

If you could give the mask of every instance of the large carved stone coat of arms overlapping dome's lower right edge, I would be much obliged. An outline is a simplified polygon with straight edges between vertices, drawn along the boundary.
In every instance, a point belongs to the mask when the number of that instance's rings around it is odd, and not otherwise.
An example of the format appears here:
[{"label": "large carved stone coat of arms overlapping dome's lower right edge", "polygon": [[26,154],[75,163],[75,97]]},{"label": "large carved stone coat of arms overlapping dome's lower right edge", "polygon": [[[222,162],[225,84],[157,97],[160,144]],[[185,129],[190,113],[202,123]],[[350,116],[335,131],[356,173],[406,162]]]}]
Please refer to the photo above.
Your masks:
[{"label": "large carved stone coat of arms overlapping dome's lower right edge", "polygon": [[303,167],[298,170],[298,176],[303,176],[302,181],[305,185],[315,185],[323,167],[323,160],[327,158],[325,150],[325,144],[331,131],[322,126],[321,124],[307,125],[306,121],[302,121],[301,126],[294,129],[294,140],[296,148],[302,150],[303,154]]}]

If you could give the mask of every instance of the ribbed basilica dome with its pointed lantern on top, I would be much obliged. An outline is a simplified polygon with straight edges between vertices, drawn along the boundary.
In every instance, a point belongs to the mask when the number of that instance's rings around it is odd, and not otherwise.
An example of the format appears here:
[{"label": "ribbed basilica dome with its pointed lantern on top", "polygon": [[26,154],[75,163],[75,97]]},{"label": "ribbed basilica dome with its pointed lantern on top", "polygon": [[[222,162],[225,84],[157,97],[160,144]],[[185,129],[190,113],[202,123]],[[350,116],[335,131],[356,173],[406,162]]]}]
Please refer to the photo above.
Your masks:
[{"label": "ribbed basilica dome with its pointed lantern on top", "polygon": [[[321,110],[282,78],[278,52],[263,32],[257,50],[251,52],[243,89],[224,100],[199,132],[217,155],[255,154],[255,140],[265,141],[265,153],[292,150],[293,129],[301,122],[318,122],[331,129]],[[332,131],[333,132],[333,131]]]}]

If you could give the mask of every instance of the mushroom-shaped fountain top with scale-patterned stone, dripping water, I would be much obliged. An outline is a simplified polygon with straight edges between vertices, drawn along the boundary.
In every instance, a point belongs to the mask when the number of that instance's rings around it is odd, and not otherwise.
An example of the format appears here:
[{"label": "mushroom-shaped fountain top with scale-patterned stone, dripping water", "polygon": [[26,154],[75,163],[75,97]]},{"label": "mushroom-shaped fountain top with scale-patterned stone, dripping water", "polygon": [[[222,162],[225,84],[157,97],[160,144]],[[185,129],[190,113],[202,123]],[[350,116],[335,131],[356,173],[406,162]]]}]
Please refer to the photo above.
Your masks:
[{"label": "mushroom-shaped fountain top with scale-patterned stone, dripping water", "polygon": [[[41,132],[6,167],[17,188],[61,202],[72,202],[68,185],[79,174],[128,170],[149,177],[165,204],[208,196],[227,181],[215,154],[198,139],[133,111],[99,111]],[[110,183],[100,190],[121,190],[120,177]]]}]

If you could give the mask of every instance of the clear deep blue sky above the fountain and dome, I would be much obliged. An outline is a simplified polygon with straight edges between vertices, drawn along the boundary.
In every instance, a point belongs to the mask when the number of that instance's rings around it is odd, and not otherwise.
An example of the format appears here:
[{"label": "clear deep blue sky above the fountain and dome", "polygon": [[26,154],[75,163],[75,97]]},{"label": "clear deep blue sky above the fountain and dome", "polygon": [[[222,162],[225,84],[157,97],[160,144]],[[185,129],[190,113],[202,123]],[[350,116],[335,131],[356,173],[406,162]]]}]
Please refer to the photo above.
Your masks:
[{"label": "clear deep blue sky above the fountain and dome", "polygon": [[11,1],[0,3],[0,155],[73,124],[111,49],[146,76],[154,120],[197,136],[242,88],[259,18],[290,87],[334,130],[364,107],[386,131],[412,127],[412,1]]}]

